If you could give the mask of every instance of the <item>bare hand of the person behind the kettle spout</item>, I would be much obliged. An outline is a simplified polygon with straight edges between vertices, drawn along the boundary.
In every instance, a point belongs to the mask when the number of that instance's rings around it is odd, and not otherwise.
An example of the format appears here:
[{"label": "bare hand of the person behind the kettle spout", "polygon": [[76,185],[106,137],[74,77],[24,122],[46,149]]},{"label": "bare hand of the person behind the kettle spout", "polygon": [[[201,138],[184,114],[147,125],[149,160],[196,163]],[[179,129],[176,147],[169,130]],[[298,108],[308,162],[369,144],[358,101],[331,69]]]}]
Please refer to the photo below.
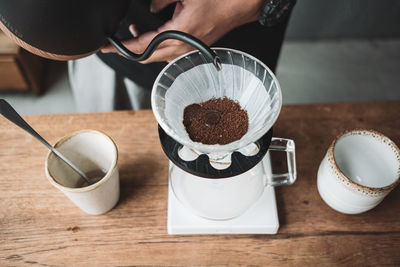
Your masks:
[{"label": "bare hand of the person behind the kettle spout", "polygon": [[[167,30],[183,31],[211,45],[230,30],[258,19],[262,9],[262,0],[152,0],[150,11],[157,13],[169,4],[177,2],[172,19],[156,31],[140,34],[135,25],[129,30],[133,37],[123,44],[132,52],[141,54],[150,41],[159,33]],[[194,50],[178,40],[166,40],[154,51],[152,56],[141,63],[172,61],[176,57]],[[112,45],[101,49],[103,53],[116,53]]]}]

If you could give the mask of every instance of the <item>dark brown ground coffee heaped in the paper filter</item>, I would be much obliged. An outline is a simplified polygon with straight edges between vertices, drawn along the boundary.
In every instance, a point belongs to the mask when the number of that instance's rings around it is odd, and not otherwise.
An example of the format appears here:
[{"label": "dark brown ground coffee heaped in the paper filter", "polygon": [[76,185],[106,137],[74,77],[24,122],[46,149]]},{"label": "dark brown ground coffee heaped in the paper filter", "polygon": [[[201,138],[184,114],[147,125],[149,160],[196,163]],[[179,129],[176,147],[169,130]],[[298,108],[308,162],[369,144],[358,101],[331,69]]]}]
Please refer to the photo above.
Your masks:
[{"label": "dark brown ground coffee heaped in the paper filter", "polygon": [[195,142],[225,145],[246,134],[249,118],[239,103],[227,97],[212,98],[185,107],[183,125]]}]

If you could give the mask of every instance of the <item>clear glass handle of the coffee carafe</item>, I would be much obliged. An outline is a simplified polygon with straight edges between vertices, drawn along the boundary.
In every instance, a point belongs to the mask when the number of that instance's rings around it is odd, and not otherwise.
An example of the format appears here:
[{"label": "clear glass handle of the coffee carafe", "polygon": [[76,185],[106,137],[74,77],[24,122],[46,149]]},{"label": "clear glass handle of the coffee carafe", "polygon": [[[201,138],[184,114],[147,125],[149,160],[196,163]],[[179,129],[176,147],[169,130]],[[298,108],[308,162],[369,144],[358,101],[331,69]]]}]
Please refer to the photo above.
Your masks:
[{"label": "clear glass handle of the coffee carafe", "polygon": [[296,181],[297,169],[296,169],[296,149],[294,141],[291,139],[272,137],[271,145],[269,146],[270,151],[283,151],[286,152],[287,161],[287,173],[272,173],[270,177],[267,176],[266,186],[281,186],[291,185]]}]

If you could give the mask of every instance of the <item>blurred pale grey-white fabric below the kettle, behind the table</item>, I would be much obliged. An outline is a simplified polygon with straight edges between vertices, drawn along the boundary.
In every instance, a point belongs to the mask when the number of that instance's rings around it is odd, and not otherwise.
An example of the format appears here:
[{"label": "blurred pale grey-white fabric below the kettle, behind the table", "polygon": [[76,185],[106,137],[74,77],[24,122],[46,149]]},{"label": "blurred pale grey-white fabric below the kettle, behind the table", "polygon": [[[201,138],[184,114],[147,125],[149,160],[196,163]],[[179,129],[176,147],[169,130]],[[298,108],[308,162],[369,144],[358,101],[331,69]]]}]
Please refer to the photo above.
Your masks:
[{"label": "blurred pale grey-white fabric below the kettle, behind the table", "polygon": [[151,91],[124,78],[96,55],[68,62],[78,112],[149,109]]}]

